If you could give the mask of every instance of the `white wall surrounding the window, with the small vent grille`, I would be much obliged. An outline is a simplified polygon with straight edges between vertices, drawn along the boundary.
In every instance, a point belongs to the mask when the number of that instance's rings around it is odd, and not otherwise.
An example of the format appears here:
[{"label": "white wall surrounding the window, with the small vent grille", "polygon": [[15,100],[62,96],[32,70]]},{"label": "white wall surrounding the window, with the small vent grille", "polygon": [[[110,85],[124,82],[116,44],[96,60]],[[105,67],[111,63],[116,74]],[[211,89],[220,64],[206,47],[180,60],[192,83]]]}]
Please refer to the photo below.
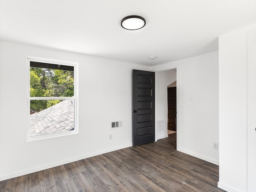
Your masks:
[{"label": "white wall surrounding the window, with the small vent grille", "polygon": [[[26,56],[79,63],[79,134],[26,141]],[[150,67],[0,42],[0,180],[132,146],[132,69]]]}]

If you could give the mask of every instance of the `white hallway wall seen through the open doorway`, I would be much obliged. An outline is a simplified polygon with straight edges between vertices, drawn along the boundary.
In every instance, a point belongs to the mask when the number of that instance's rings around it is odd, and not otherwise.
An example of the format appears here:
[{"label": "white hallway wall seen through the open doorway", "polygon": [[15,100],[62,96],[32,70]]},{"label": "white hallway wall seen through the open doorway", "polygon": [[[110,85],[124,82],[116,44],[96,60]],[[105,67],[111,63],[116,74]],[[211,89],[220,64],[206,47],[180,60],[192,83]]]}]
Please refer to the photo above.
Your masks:
[{"label": "white hallway wall seen through the open doorway", "polygon": [[156,135],[157,139],[168,137],[167,118],[168,118],[168,102],[167,87],[176,81],[176,70],[166,70],[157,72],[156,77]]}]

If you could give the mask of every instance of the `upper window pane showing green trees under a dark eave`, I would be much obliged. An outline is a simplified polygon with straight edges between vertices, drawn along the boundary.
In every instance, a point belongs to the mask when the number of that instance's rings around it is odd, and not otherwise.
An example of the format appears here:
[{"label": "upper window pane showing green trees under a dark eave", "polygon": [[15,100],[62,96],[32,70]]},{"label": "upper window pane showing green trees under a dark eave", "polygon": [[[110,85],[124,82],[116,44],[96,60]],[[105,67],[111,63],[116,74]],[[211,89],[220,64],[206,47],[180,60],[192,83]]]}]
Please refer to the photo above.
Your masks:
[{"label": "upper window pane showing green trees under a dark eave", "polygon": [[[39,63],[40,64],[40,63]],[[40,66],[40,65],[37,66]],[[72,97],[74,96],[74,67],[48,64],[48,67],[34,67],[30,63],[30,97]],[[46,66],[43,65],[42,66]],[[55,69],[57,68],[57,69]],[[73,70],[71,69],[73,68]]]}]

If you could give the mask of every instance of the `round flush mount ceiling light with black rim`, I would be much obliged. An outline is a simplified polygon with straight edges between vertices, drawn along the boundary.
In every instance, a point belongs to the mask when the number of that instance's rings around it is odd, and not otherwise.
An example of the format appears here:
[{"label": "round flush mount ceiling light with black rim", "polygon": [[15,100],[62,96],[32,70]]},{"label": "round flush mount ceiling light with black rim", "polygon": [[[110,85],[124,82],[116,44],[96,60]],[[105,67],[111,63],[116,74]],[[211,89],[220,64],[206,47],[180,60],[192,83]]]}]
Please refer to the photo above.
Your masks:
[{"label": "round flush mount ceiling light with black rim", "polygon": [[146,20],[137,15],[127,16],[122,19],[121,26],[127,30],[138,30],[146,25]]}]

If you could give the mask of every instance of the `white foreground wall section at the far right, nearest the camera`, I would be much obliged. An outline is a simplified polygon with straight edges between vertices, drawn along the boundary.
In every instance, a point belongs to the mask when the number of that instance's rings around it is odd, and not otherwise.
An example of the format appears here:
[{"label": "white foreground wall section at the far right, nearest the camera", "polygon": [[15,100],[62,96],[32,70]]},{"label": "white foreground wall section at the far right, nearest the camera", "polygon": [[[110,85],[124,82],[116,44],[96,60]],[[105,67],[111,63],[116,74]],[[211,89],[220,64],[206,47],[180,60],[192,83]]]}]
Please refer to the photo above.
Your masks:
[{"label": "white foreground wall section at the far right, nearest the camera", "polygon": [[[247,152],[247,32],[253,29],[255,25],[219,37],[218,187],[230,192],[248,191],[247,153],[250,154],[250,151]],[[255,179],[250,182],[255,184]]]}]

